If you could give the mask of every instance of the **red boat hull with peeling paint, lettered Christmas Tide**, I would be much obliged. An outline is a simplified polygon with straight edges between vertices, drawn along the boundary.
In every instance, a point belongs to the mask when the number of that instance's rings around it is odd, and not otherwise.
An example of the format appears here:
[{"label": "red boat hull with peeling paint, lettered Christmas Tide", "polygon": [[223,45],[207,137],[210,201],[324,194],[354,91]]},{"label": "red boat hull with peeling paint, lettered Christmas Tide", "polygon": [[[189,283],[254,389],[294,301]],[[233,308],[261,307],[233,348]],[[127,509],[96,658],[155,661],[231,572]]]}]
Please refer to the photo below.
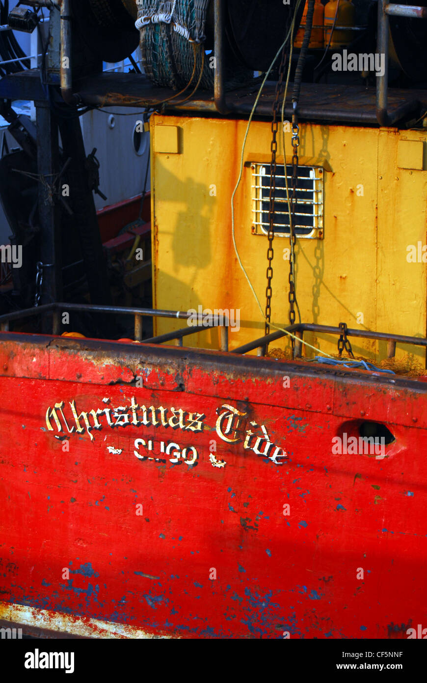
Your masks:
[{"label": "red boat hull with peeling paint, lettered Christmas Tide", "polygon": [[[92,620],[127,637],[406,639],[427,626],[424,382],[0,341],[0,619],[27,607],[35,625]],[[384,456],[334,454],[362,421],[395,436]]]}]

